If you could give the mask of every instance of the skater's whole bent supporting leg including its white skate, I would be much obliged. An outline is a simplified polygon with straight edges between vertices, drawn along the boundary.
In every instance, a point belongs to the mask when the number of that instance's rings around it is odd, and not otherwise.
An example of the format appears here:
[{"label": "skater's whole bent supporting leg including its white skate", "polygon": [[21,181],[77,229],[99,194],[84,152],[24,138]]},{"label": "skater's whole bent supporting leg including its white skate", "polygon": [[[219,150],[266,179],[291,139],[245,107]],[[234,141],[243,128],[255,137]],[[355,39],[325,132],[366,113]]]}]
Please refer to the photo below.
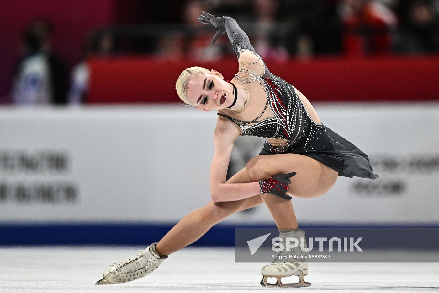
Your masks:
[{"label": "skater's whole bent supporting leg including its white skate", "polygon": [[[275,175],[296,172],[290,178],[288,194],[300,198],[313,198],[327,192],[335,183],[338,173],[323,165],[311,157],[299,154],[275,154],[254,157],[248,161],[248,177],[252,181],[267,179]],[[270,210],[277,228],[280,230],[281,239],[300,239],[301,245],[306,247],[305,231],[299,230],[291,200],[278,197],[273,194],[261,194],[261,198]],[[305,243],[302,243],[304,241]],[[289,255],[303,255],[301,249],[281,251]],[[311,284],[305,282],[303,277],[308,274],[306,258],[295,260],[274,260],[271,264],[261,268],[262,286],[288,286],[304,287]],[[281,278],[297,275],[299,282],[295,284],[283,284]],[[267,282],[267,278],[276,278],[276,283]]]}]

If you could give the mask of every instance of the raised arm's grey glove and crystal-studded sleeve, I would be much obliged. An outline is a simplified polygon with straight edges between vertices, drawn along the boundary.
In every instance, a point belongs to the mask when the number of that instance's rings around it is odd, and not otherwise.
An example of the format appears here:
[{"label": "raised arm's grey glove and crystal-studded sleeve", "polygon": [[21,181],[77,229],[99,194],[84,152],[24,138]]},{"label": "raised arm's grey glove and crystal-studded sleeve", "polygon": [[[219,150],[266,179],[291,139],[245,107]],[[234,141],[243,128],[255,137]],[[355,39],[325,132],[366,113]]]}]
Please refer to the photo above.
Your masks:
[{"label": "raised arm's grey glove and crystal-studded sleeve", "polygon": [[205,24],[212,24],[216,27],[215,36],[213,36],[212,44],[215,43],[216,39],[223,33],[227,33],[230,42],[233,46],[233,51],[235,51],[238,59],[240,52],[243,50],[255,51],[247,34],[238,26],[237,22],[229,16],[213,16],[205,11],[203,11],[205,16],[200,15],[197,18],[199,22]]}]

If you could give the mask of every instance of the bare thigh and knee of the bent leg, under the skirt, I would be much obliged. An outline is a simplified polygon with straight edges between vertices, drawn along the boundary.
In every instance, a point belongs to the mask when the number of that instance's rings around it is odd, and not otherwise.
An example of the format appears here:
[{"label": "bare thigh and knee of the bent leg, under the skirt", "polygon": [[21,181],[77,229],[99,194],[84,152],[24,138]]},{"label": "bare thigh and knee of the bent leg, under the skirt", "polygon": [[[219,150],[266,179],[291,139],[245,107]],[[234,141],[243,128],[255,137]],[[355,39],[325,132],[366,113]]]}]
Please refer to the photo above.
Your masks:
[{"label": "bare thigh and knee of the bent leg, under the skirt", "polygon": [[[288,193],[299,198],[313,198],[325,194],[334,185],[338,172],[301,154],[272,154],[253,157],[247,163],[252,179],[266,179],[275,175],[296,172],[291,178]],[[265,177],[265,178],[262,178]]]}]

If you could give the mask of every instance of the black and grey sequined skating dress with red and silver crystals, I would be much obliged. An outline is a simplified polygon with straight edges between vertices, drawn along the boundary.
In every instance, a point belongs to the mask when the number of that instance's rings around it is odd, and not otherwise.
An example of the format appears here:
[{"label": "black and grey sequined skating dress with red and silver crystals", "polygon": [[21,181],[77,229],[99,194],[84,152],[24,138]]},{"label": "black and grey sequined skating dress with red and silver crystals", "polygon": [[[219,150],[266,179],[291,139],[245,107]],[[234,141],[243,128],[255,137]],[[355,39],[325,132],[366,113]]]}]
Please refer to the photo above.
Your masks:
[{"label": "black and grey sequined skating dress with red and silver crystals", "polygon": [[[250,121],[239,119],[237,117],[239,115],[231,109],[219,110],[217,114],[220,118],[237,125],[241,136],[265,138],[266,142],[260,155],[302,154],[327,165],[337,171],[339,176],[378,178],[378,175],[372,172],[369,158],[363,151],[323,123],[318,124],[313,121],[299,96],[300,92],[288,82],[270,73],[248,41],[247,34],[239,28],[236,21],[230,17],[223,17],[223,21],[238,60],[242,52],[248,50],[257,56],[257,61],[247,65],[259,62],[263,69],[261,74],[255,73],[251,66],[240,67],[234,80],[243,86],[250,83],[259,84],[265,92],[266,103],[263,112],[255,115],[257,117]],[[252,99],[257,98],[252,97]],[[263,118],[267,109],[271,110],[274,117]],[[284,143],[272,145],[273,139],[282,139]]]}]

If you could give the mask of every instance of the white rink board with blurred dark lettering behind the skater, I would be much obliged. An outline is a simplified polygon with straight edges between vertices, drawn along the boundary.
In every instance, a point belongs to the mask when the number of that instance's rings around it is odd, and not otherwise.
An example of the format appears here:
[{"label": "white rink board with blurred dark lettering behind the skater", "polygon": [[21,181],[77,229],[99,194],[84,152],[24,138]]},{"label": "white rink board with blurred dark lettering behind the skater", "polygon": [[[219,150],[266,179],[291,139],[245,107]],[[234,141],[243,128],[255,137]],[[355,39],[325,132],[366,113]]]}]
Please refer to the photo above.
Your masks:
[{"label": "white rink board with blurred dark lettering behind the skater", "polygon": [[[380,178],[338,177],[322,197],[293,198],[299,223],[439,223],[439,104],[315,108],[327,127],[369,155]],[[0,223],[180,220],[210,201],[214,112],[181,105],[1,108]],[[238,138],[234,168],[262,145]],[[33,171],[23,167],[23,154]],[[60,170],[50,167],[50,156],[62,158]],[[32,191],[40,185],[58,191]],[[223,223],[273,220],[259,206]]]}]

